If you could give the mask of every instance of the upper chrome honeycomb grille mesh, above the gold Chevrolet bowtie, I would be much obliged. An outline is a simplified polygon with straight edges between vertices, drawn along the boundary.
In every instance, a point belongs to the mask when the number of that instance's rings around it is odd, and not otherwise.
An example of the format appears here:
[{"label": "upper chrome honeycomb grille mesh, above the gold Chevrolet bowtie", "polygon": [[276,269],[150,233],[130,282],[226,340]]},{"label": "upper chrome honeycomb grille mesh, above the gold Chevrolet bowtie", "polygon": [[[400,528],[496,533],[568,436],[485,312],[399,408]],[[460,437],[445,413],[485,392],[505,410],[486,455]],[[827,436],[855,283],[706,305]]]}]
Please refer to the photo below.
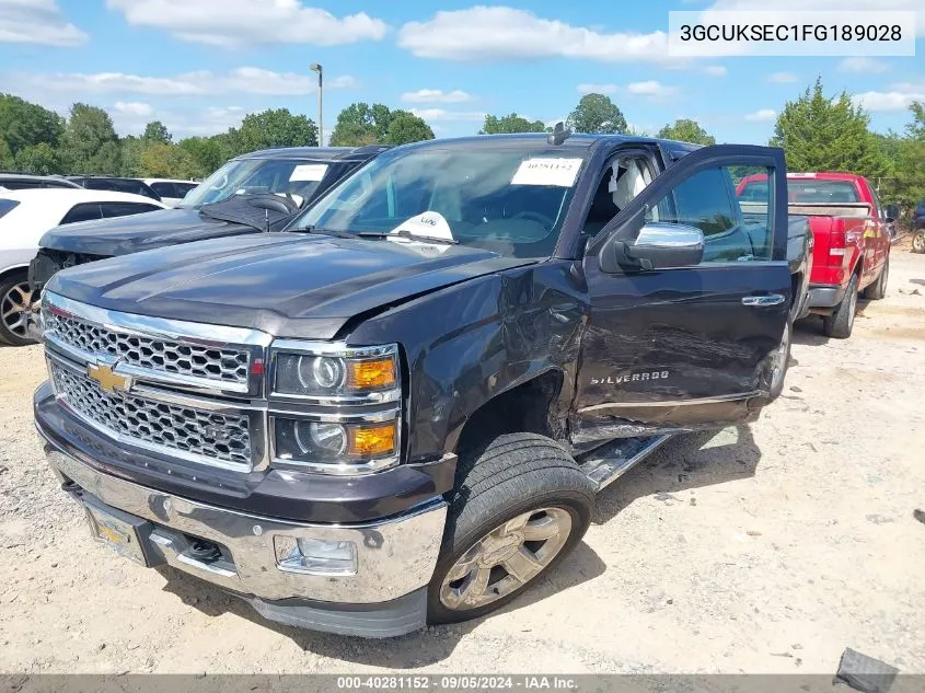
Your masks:
[{"label": "upper chrome honeycomb grille mesh, above the gold Chevrolet bowtie", "polygon": [[63,345],[89,355],[149,371],[246,385],[250,354],[246,349],[212,347],[160,339],[103,327],[54,311],[44,312],[45,331]]}]

